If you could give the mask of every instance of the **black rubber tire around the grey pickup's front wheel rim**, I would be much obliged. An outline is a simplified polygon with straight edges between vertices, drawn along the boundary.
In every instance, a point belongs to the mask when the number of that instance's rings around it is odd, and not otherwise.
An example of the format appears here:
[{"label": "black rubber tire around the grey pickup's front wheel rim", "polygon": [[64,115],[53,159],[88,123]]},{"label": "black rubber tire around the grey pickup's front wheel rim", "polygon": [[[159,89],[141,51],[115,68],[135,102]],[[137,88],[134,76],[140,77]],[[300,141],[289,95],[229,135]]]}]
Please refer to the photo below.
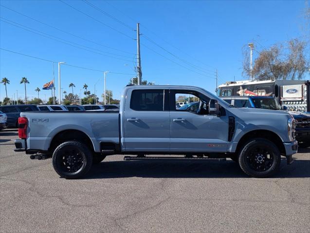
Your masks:
[{"label": "black rubber tire around the grey pickup's front wheel rim", "polygon": [[[249,157],[254,156],[253,150],[255,148],[260,148],[262,150],[266,149],[272,153],[273,161],[272,165],[264,171],[256,171],[249,165]],[[280,169],[281,155],[279,149],[274,145],[273,142],[266,140],[264,138],[254,138],[246,142],[243,148],[240,150],[239,155],[239,165],[241,169],[249,176],[256,178],[265,178],[273,176]]]}]

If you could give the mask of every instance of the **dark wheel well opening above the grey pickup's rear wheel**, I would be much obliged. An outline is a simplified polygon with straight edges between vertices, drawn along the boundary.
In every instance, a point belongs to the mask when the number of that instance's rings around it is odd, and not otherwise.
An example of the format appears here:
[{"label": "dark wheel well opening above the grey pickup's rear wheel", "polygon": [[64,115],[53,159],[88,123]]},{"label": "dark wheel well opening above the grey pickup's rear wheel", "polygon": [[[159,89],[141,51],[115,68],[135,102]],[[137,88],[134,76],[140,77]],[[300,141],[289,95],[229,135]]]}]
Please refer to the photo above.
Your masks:
[{"label": "dark wheel well opening above the grey pickup's rear wheel", "polygon": [[85,144],[92,152],[94,152],[94,145],[91,141],[91,138],[80,130],[63,130],[56,133],[50,143],[48,150],[53,153],[56,147],[66,141],[79,141]]}]

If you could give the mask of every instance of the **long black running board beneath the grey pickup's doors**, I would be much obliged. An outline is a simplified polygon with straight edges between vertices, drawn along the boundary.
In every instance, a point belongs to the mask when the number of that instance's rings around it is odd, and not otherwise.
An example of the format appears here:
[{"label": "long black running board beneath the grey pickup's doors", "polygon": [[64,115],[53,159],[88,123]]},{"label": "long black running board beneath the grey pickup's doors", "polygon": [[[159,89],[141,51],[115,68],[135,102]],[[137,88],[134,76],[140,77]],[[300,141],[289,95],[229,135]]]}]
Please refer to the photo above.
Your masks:
[{"label": "long black running board beneath the grey pickup's doors", "polygon": [[194,160],[194,161],[226,161],[226,158],[182,158],[182,157],[136,157],[136,156],[125,156],[125,161],[140,161],[140,160],[152,160],[152,161],[184,161],[184,160]]}]

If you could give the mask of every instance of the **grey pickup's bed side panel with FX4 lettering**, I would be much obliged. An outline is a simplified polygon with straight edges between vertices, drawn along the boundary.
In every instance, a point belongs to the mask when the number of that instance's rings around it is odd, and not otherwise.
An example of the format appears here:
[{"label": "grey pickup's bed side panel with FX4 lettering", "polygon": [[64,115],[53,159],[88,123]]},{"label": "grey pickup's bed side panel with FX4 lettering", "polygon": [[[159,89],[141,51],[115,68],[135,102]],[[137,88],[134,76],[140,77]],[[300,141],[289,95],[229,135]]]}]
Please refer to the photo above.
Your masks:
[{"label": "grey pickup's bed side panel with FX4 lettering", "polygon": [[48,150],[53,137],[65,130],[86,133],[100,151],[100,141],[119,143],[118,112],[25,112],[28,118],[27,148]]}]

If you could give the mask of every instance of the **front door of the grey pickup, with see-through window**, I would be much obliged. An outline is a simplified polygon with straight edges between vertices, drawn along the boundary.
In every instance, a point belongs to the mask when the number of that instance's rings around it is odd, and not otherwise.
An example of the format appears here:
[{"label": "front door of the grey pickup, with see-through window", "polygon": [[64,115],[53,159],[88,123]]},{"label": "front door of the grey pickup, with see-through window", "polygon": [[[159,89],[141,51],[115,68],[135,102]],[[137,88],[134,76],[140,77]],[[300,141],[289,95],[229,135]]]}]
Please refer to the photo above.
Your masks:
[{"label": "front door of the grey pickup, with see-through window", "polygon": [[[197,91],[170,90],[171,152],[227,151],[228,116],[210,115],[209,100]],[[186,104],[178,108],[179,101]]]}]

